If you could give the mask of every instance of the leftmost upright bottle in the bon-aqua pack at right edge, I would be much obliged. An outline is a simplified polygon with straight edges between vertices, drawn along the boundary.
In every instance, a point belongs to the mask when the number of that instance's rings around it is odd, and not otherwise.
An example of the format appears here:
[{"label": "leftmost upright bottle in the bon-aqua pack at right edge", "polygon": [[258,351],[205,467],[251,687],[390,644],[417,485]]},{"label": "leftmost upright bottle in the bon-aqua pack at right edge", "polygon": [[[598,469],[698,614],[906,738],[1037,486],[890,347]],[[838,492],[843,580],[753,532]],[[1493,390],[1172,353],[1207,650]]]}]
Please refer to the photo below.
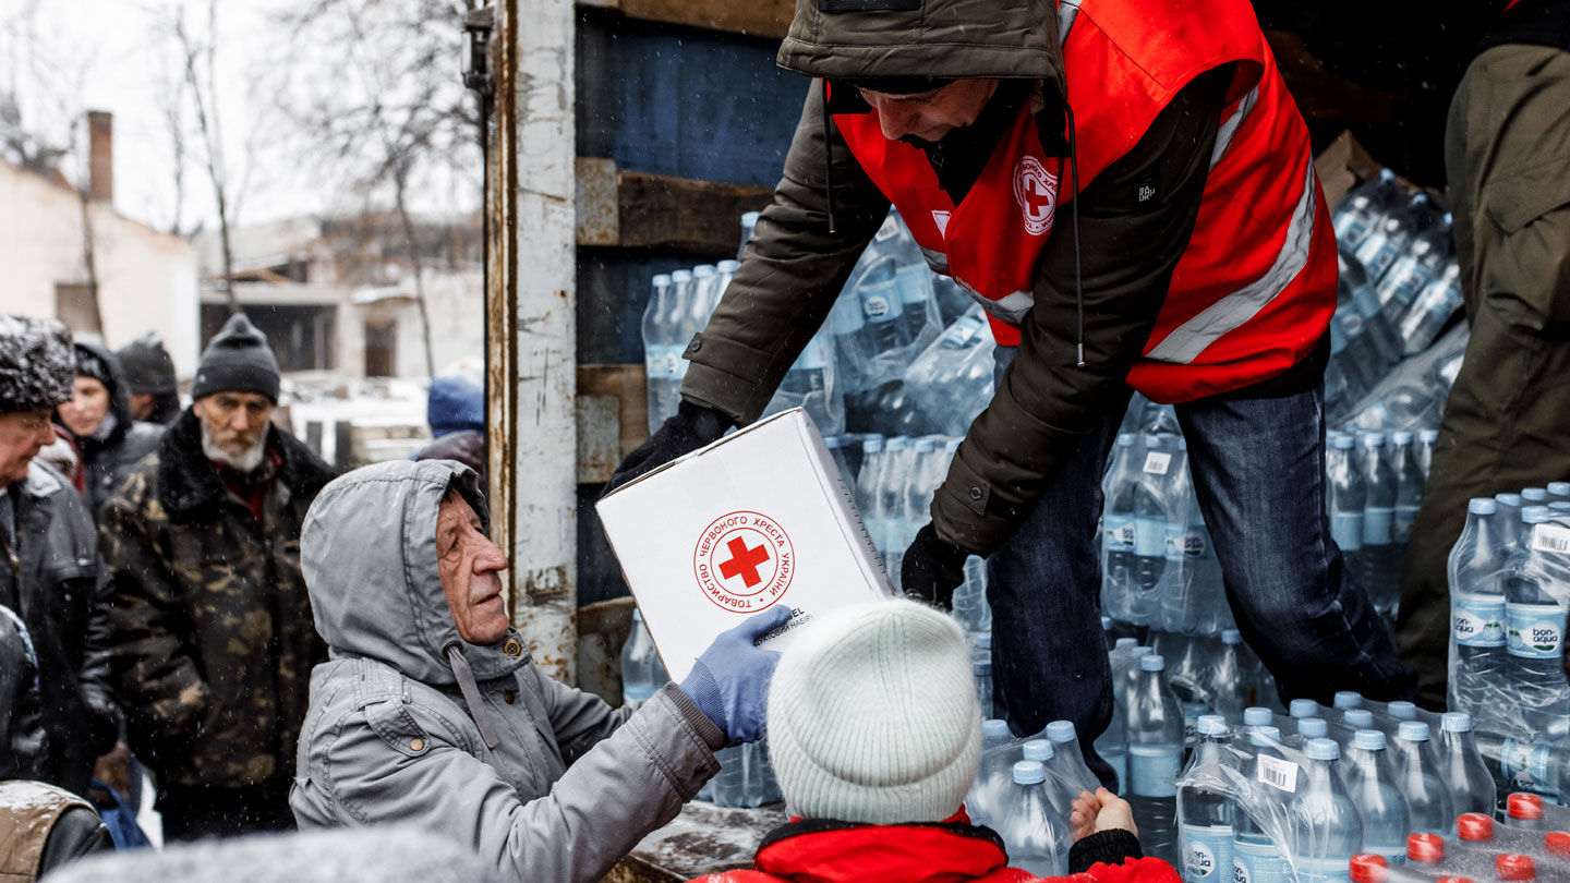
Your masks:
[{"label": "leftmost upright bottle in the bon-aqua pack at right edge", "polygon": [[1498,503],[1487,496],[1466,503],[1466,525],[1446,566],[1451,586],[1451,638],[1455,665],[1449,685],[1454,709],[1477,710],[1506,687],[1504,537]]}]

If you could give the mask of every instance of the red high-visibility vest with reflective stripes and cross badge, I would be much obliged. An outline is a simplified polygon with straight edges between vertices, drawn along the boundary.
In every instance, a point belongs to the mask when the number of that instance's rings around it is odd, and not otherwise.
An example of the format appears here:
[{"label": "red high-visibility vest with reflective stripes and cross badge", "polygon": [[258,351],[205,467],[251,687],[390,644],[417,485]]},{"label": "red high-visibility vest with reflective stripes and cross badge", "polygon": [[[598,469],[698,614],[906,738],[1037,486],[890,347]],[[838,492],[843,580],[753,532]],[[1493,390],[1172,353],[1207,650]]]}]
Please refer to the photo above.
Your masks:
[{"label": "red high-visibility vest with reflective stripes and cross badge", "polygon": [[[1064,0],[1058,24],[1080,189],[1132,149],[1179,90],[1237,63],[1193,236],[1129,385],[1185,402],[1297,365],[1336,308],[1336,240],[1308,127],[1250,3]],[[1036,259],[1072,198],[1068,160],[1046,156],[1028,107],[958,206],[918,148],[882,137],[876,110],[834,121],[933,269],[988,310],[997,343],[1017,344]]]}]

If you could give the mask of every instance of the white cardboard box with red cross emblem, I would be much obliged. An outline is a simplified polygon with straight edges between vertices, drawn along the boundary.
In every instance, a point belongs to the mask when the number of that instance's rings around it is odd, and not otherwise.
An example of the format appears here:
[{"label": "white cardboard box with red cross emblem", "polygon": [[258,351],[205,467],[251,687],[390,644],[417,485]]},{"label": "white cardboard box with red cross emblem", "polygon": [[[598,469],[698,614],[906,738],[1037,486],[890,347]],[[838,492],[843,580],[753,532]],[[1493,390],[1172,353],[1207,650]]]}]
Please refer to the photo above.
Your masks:
[{"label": "white cardboard box with red cross emblem", "polygon": [[595,507],[670,680],[714,636],[788,605],[758,646],[829,610],[893,597],[851,489],[801,409],[619,487]]}]

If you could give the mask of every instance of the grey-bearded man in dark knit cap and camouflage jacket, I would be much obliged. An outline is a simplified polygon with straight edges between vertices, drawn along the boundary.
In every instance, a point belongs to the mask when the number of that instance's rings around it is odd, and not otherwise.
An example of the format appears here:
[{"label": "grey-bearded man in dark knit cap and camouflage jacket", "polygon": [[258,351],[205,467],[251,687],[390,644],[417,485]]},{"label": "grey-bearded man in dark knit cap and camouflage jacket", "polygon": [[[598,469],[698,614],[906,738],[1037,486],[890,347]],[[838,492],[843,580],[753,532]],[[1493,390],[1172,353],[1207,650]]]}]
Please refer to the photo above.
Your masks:
[{"label": "grey-bearded man in dark knit cap and camouflage jacket", "polygon": [[294,828],[295,742],[327,658],[300,526],[333,476],[270,423],[278,385],[267,338],[232,316],[192,407],[100,518],[115,691],[171,841]]}]

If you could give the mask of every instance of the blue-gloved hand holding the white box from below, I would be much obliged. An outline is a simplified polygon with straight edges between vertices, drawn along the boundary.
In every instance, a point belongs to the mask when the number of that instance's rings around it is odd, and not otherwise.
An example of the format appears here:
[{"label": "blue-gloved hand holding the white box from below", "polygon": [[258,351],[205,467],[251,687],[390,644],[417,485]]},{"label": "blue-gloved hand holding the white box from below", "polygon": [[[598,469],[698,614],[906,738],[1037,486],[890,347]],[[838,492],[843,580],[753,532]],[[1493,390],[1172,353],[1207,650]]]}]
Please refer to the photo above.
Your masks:
[{"label": "blue-gloved hand holding the white box from below", "polygon": [[769,680],[780,655],[754,643],[787,621],[790,608],[777,605],[721,632],[681,682],[681,691],[724,731],[728,745],[763,738]]}]

